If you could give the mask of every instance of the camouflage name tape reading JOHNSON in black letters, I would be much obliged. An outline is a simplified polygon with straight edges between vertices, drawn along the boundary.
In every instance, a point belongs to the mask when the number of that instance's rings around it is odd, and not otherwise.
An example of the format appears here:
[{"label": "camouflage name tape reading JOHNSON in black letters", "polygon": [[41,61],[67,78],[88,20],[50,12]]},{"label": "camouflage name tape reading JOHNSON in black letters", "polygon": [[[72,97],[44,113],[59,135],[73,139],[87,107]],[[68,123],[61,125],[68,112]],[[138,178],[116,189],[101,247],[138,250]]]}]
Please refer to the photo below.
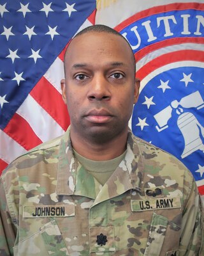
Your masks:
[{"label": "camouflage name tape reading JOHNSON in black letters", "polygon": [[75,205],[25,205],[24,218],[75,216]]}]

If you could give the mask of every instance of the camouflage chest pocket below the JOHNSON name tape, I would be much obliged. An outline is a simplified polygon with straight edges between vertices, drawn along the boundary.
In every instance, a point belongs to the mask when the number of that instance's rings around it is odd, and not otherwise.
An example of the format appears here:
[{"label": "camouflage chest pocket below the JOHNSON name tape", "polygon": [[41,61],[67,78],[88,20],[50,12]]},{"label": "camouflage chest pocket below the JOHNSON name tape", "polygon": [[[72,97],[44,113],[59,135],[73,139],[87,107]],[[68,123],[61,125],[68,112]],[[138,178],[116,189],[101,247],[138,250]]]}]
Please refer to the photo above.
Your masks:
[{"label": "camouflage chest pocket below the JOHNSON name tape", "polygon": [[69,255],[55,220],[43,225],[38,232],[13,247],[14,256]]}]

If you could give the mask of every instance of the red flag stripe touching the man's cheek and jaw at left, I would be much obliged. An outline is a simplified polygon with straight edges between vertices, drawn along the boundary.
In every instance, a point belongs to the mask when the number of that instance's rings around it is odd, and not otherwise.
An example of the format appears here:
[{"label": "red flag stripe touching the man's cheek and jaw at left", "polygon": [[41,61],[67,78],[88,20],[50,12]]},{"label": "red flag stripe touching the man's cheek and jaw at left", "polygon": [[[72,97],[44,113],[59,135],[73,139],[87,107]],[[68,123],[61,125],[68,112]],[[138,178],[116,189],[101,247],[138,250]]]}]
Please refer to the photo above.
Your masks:
[{"label": "red flag stripe touching the man's cheek and jaw at left", "polygon": [[30,94],[61,125],[62,129],[66,131],[70,121],[68,109],[62,100],[61,93],[45,77],[42,77]]}]

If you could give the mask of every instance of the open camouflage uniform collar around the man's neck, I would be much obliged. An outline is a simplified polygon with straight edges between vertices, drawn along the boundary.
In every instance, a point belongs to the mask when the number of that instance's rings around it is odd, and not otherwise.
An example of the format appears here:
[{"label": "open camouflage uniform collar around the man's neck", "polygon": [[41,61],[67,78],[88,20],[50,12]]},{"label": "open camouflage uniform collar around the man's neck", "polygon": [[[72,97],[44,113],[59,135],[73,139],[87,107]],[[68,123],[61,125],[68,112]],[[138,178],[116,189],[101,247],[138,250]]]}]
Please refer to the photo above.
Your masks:
[{"label": "open camouflage uniform collar around the man's neck", "polygon": [[94,199],[94,204],[98,204],[129,189],[141,191],[143,157],[130,130],[126,156],[104,186],[87,173],[80,163],[77,163],[69,134],[70,127],[62,136],[59,145],[57,195],[82,195]]}]

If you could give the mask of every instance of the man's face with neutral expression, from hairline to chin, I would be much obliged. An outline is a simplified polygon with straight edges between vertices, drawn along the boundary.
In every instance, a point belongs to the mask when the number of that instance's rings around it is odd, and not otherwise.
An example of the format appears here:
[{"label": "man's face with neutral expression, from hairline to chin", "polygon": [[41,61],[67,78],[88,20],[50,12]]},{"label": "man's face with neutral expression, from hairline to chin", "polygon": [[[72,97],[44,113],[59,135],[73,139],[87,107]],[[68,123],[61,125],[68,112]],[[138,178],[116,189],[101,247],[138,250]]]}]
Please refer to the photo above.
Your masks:
[{"label": "man's face with neutral expression, from hairline to chin", "polygon": [[105,32],[77,36],[66,54],[61,86],[71,132],[105,143],[128,131],[138,86],[131,49],[120,36]]}]

